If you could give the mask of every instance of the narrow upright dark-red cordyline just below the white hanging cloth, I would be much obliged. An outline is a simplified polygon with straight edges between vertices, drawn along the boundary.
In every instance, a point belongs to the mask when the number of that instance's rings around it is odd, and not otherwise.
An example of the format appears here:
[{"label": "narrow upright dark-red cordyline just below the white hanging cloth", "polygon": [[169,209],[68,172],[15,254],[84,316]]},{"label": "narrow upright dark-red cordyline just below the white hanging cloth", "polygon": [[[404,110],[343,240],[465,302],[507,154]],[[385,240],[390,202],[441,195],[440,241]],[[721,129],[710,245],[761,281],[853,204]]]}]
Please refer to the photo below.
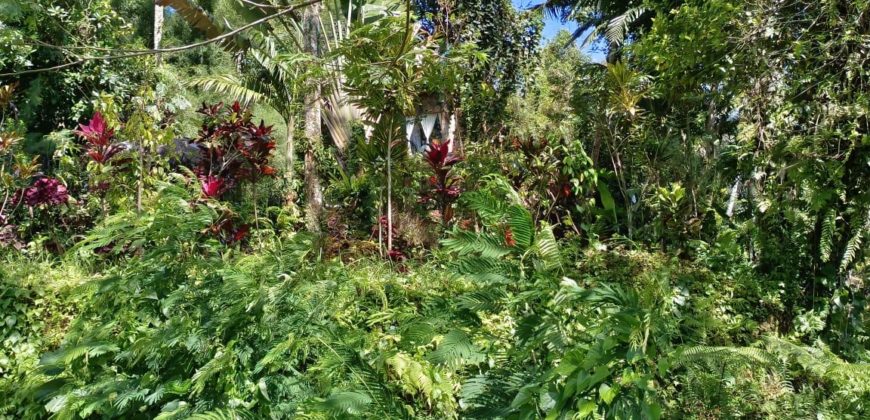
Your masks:
[{"label": "narrow upright dark-red cordyline just below the white hanging cloth", "polygon": [[459,198],[461,189],[457,185],[459,177],[450,174],[453,165],[462,162],[462,158],[450,151],[450,142],[433,141],[423,155],[426,163],[432,168],[429,177],[430,191],[421,197],[423,202],[434,202],[441,213],[443,223],[453,218],[453,202]]}]

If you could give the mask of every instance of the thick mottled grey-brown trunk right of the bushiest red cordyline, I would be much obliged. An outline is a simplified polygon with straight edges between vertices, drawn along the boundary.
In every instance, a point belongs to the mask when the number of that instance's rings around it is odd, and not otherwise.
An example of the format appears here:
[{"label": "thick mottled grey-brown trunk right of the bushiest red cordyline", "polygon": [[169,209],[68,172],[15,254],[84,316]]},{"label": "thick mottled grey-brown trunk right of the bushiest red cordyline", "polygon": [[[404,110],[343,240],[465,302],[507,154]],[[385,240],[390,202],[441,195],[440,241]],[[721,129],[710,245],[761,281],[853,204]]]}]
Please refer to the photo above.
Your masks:
[{"label": "thick mottled grey-brown trunk right of the bushiest red cordyline", "polygon": [[[302,15],[302,30],[305,52],[314,56],[320,55],[320,3],[305,8]],[[320,222],[323,215],[323,191],[320,177],[317,175],[316,151],[323,147],[320,131],[320,84],[311,81],[305,94],[305,195],[308,201],[306,207],[306,225],[312,232],[320,232]]]}]

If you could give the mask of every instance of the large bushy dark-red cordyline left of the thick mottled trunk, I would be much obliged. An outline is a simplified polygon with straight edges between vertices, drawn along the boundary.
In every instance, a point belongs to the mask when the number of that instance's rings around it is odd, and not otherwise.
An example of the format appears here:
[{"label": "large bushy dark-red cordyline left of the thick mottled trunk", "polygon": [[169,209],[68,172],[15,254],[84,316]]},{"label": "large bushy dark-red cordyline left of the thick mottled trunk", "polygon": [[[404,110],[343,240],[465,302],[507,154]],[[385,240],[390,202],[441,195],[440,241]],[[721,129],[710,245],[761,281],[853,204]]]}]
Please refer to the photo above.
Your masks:
[{"label": "large bushy dark-red cordyline left of the thick mottled trunk", "polygon": [[275,149],[272,126],[251,122],[251,112],[238,102],[224,106],[203,104],[205,115],[194,143],[201,157],[194,172],[199,175],[203,195],[218,198],[242,181],[255,182],[275,175],[269,159]]}]

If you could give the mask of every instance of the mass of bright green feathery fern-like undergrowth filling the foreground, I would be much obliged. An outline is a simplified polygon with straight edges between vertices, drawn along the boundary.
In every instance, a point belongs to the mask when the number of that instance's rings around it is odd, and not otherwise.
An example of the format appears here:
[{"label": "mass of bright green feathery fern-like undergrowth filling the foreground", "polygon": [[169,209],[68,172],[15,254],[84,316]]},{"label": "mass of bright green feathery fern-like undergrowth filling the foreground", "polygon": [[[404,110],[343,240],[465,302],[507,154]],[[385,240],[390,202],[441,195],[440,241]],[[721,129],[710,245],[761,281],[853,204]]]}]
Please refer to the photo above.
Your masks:
[{"label": "mass of bright green feathery fern-like undergrowth filling the foreground", "polygon": [[4,414],[867,412],[866,361],[769,336],[735,345],[760,337],[734,333],[757,324],[724,325],[717,313],[745,311],[755,289],[658,254],[577,252],[500,178],[463,199],[476,229],[454,229],[445,254],[407,272],[320,260],[301,233],[260,235],[254,252],[227,247],[209,227],[231,209],[194,197],[182,178],[162,184],[142,213],[108,217],[50,268],[84,270],[72,292],[80,307],[56,350],[6,380],[16,404]]}]

